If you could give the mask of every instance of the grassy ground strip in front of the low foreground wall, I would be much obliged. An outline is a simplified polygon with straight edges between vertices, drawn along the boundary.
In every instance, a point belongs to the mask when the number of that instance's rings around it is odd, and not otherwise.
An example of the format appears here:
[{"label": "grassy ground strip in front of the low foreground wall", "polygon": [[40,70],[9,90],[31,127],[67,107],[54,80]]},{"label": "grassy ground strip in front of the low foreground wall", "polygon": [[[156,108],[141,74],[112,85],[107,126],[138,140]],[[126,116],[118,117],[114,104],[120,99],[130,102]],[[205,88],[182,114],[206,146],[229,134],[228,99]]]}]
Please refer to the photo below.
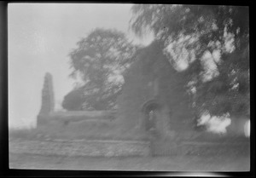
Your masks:
[{"label": "grassy ground strip in front of the low foreground wall", "polygon": [[154,157],[154,158],[93,158],[58,157],[30,154],[9,155],[13,169],[76,169],[76,170],[137,170],[137,171],[247,171],[248,156],[237,157]]}]

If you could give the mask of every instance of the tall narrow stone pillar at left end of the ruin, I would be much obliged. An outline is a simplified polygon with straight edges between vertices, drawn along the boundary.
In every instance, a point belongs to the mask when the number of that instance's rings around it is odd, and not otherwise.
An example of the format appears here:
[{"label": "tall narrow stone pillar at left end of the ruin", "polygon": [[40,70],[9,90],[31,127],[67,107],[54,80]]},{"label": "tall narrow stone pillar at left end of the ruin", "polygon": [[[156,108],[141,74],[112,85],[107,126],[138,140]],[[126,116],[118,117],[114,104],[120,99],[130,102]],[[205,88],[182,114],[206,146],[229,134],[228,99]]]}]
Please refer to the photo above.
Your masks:
[{"label": "tall narrow stone pillar at left end of the ruin", "polygon": [[55,101],[53,92],[52,75],[47,72],[44,76],[44,87],[42,90],[42,105],[38,114],[38,126],[47,122],[49,113],[54,111]]}]

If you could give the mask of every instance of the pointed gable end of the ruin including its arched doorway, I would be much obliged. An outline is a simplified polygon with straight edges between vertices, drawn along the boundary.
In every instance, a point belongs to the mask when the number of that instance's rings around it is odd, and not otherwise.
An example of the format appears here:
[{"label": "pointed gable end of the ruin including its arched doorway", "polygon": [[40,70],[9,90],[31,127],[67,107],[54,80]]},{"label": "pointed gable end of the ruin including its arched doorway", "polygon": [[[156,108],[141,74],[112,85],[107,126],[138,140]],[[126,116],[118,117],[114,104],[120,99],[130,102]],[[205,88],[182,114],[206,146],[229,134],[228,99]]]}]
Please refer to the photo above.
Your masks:
[{"label": "pointed gable end of the ruin including its arched doorway", "polygon": [[[148,112],[154,112],[155,134],[174,139],[178,132],[192,129],[183,120],[191,118],[189,96],[184,95],[183,74],[177,72],[155,41],[137,55],[136,61],[125,73],[125,85],[118,98],[118,121],[124,132],[140,130],[148,133]],[[150,122],[149,122],[150,123]],[[177,124],[176,124],[177,123]],[[150,125],[150,124],[149,124]]]}]

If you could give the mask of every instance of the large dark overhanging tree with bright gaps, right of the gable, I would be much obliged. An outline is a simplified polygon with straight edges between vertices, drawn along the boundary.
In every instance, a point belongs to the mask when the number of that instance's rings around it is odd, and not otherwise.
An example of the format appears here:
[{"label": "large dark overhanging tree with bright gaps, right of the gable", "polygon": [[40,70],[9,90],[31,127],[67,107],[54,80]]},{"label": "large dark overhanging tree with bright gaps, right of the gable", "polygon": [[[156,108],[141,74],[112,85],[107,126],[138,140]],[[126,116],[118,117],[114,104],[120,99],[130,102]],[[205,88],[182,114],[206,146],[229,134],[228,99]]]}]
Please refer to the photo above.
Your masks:
[{"label": "large dark overhanging tree with bright gaps, right of the gable", "polygon": [[134,5],[131,29],[148,30],[192,92],[196,113],[249,115],[248,8],[215,5]]}]

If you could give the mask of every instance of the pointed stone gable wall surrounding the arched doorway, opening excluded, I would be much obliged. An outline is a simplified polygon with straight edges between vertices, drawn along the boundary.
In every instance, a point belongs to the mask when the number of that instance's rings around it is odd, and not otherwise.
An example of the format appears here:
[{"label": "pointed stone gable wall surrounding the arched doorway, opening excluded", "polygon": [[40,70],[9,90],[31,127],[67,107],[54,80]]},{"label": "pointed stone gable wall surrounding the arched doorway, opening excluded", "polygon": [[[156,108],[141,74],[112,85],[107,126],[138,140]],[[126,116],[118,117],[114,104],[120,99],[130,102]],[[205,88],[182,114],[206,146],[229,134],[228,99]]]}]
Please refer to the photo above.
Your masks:
[{"label": "pointed stone gable wall surrounding the arched doorway, opening excluded", "polygon": [[[138,127],[143,119],[141,108],[148,100],[158,100],[167,107],[169,122],[182,122],[191,118],[189,97],[183,95],[183,74],[177,72],[169,60],[162,53],[162,43],[153,42],[141,50],[129,70],[125,72],[125,85],[117,102],[119,106],[118,122],[124,129],[131,130]],[[163,125],[166,125],[163,122]],[[142,124],[143,126],[143,124]],[[173,126],[175,128],[175,126]],[[166,129],[166,128],[164,128]],[[142,131],[143,128],[141,128]]]}]

